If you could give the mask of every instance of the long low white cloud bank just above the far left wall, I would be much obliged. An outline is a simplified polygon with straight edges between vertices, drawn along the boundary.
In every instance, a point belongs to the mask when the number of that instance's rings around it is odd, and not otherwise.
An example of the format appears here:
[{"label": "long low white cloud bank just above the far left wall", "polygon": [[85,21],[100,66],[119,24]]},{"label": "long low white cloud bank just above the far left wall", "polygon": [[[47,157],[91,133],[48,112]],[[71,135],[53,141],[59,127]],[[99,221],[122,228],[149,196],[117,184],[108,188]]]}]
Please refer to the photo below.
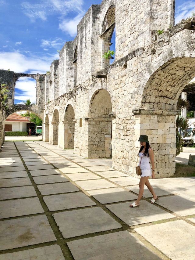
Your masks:
[{"label": "long low white cloud bank just above the far left wall", "polygon": [[15,51],[15,52],[0,52],[0,69],[13,70],[19,73],[32,73],[32,74],[44,74],[49,70],[51,62],[59,59],[59,54],[48,54],[48,56],[28,56]]}]

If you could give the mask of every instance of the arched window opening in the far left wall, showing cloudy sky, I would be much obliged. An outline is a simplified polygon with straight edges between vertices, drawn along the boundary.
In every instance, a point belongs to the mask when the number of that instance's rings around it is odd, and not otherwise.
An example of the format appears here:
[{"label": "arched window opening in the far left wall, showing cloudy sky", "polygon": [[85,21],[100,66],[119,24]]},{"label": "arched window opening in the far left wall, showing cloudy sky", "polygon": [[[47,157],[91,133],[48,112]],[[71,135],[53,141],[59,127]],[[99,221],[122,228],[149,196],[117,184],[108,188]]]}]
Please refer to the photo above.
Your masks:
[{"label": "arched window opening in the far left wall, showing cloudy sky", "polygon": [[[20,77],[16,81],[14,92],[15,105],[36,103],[36,80],[30,77]],[[30,100],[30,102],[27,100]]]}]

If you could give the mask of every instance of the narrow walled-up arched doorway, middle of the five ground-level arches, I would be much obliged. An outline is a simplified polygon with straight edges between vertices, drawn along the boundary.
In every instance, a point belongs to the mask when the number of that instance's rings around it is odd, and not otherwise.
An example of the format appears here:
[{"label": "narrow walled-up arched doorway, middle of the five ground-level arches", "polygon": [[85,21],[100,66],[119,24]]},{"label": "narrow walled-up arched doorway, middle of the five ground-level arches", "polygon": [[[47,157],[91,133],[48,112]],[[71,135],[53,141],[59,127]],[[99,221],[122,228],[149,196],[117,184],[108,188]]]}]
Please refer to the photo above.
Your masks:
[{"label": "narrow walled-up arched doorway, middle of the five ground-level arches", "polygon": [[74,149],[74,109],[69,104],[64,116],[64,149]]}]

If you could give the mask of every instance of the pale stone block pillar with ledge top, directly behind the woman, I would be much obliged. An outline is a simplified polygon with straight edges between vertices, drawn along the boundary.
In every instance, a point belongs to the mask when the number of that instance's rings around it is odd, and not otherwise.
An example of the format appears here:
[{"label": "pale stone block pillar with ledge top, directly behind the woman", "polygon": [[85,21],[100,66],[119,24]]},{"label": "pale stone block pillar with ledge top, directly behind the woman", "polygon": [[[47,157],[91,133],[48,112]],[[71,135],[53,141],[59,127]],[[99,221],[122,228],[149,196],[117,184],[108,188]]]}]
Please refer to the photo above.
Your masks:
[{"label": "pale stone block pillar with ledge top, directly behind the woman", "polygon": [[136,155],[140,148],[140,142],[137,140],[140,135],[148,135],[151,148],[154,151],[156,178],[173,176],[176,160],[176,114],[178,112],[165,110],[153,111],[152,114],[149,114],[148,111],[140,112],[143,114],[137,114],[134,111],[136,124],[133,136],[135,147],[135,156],[133,156],[135,161],[132,162],[133,172],[135,173],[138,162]]}]

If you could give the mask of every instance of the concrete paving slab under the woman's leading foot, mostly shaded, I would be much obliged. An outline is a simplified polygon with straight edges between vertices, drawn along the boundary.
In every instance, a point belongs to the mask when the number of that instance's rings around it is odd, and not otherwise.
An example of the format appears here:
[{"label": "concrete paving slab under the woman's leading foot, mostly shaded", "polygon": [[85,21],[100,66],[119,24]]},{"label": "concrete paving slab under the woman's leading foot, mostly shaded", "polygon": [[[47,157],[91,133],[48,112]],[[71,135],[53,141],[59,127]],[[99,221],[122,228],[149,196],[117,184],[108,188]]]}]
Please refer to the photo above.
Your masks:
[{"label": "concrete paving slab under the woman's leading foot, mostly shaded", "polygon": [[112,213],[129,226],[140,225],[157,220],[175,218],[174,215],[147,202],[140,201],[140,207],[130,208],[130,202],[107,205]]}]

